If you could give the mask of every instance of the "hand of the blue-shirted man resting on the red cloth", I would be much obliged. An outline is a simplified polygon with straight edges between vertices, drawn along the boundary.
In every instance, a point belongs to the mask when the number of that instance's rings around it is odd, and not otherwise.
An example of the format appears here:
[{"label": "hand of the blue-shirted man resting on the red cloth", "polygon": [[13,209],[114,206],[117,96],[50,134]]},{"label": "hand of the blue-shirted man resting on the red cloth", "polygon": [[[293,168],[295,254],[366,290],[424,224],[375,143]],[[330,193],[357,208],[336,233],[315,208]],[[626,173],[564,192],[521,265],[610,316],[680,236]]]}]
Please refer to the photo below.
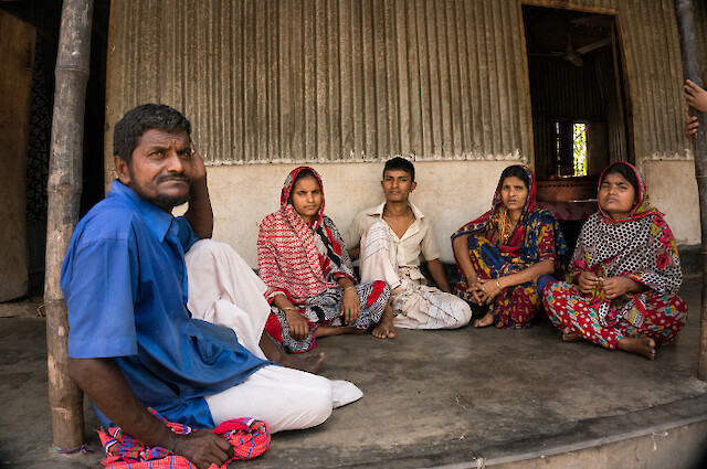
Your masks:
[{"label": "hand of the blue-shirted man resting on the red cloth", "polygon": [[231,444],[208,429],[186,435],[175,434],[170,449],[189,459],[199,469],[208,469],[212,463],[221,467],[233,457]]}]

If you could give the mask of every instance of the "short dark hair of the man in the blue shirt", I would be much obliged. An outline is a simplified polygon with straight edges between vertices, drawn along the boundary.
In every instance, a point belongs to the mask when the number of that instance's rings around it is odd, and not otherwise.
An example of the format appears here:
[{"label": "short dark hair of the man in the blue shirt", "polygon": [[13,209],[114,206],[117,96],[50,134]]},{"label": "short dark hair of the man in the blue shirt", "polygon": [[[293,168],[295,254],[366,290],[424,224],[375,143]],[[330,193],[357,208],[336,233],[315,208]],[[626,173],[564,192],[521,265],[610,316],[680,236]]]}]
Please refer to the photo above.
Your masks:
[{"label": "short dark hair of the man in the blue shirt", "polygon": [[113,154],[128,164],[143,134],[150,129],[178,134],[187,130],[191,136],[191,124],[177,109],[163,104],[143,104],[125,113],[115,125],[113,132]]}]

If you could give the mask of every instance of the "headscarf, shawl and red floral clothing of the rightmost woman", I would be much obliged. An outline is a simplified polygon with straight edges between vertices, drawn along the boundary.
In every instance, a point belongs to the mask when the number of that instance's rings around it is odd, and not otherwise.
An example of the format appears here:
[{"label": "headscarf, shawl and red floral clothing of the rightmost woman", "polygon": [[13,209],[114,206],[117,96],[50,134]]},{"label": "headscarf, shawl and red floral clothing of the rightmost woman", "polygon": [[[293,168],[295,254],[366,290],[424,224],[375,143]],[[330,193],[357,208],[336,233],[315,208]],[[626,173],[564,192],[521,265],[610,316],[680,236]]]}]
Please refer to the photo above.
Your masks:
[{"label": "headscarf, shawl and red floral clothing of the rightmost woman", "polygon": [[[663,214],[650,205],[639,171],[624,162],[614,164],[626,164],[634,171],[639,203],[629,218],[613,220],[600,206],[587,221],[572,255],[568,281],[545,290],[545,309],[558,329],[606,349],[615,349],[624,337],[647,337],[656,345],[668,344],[687,317],[687,303],[676,295],[683,274],[673,232]],[[600,288],[583,295],[572,285],[582,271],[600,278],[625,276],[648,289],[613,300],[606,299]]]}]

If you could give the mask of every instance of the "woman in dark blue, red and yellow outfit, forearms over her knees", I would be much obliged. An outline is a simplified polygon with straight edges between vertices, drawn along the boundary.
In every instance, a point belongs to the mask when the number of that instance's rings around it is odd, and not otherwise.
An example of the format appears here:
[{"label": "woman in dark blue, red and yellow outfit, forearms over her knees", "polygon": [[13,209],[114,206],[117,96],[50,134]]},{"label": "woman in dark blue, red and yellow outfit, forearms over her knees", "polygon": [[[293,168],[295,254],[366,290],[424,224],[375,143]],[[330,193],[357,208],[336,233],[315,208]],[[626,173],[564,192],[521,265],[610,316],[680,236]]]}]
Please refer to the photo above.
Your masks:
[{"label": "woman in dark blue, red and yellow outfit, forearms over her knees", "polygon": [[457,264],[454,292],[486,310],[475,328],[530,327],[542,288],[555,281],[567,243],[555,216],[536,207],[532,171],[519,164],[500,174],[492,209],[452,235]]}]

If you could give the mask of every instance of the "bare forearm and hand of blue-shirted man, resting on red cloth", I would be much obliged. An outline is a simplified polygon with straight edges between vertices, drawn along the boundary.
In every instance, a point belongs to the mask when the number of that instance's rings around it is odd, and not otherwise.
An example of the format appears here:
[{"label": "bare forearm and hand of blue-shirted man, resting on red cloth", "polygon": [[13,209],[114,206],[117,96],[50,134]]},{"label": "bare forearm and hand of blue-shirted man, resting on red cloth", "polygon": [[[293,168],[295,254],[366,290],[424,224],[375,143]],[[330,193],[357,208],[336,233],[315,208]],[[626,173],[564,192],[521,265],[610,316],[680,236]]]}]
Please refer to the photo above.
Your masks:
[{"label": "bare forearm and hand of blue-shirted man, resting on red cloth", "polygon": [[199,469],[233,456],[231,445],[209,430],[172,433],[147,412],[113,359],[68,359],[68,375],[106,417],[147,446],[171,449]]}]

